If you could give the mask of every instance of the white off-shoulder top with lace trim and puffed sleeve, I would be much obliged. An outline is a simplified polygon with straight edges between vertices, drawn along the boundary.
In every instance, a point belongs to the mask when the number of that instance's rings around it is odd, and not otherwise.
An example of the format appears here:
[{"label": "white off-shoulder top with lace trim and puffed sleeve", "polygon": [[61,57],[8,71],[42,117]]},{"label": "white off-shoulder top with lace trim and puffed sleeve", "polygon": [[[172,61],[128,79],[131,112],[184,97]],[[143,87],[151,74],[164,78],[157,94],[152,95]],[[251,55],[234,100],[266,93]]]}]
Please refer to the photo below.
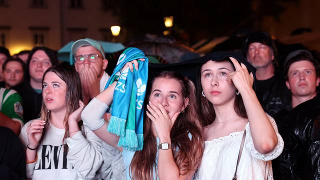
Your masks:
[{"label": "white off-shoulder top with lace trim and puffed sleeve", "polygon": [[[237,180],[273,179],[270,160],[276,158],[282,152],[283,139],[278,133],[274,119],[269,115],[267,116],[275,129],[278,144],[267,154],[259,153],[254,148],[250,125],[247,123],[244,146],[236,173]],[[194,178],[231,180],[235,171],[242,135],[243,131],[232,132],[227,136],[205,141],[202,161]],[[264,177],[265,174],[268,174],[267,178]]]}]

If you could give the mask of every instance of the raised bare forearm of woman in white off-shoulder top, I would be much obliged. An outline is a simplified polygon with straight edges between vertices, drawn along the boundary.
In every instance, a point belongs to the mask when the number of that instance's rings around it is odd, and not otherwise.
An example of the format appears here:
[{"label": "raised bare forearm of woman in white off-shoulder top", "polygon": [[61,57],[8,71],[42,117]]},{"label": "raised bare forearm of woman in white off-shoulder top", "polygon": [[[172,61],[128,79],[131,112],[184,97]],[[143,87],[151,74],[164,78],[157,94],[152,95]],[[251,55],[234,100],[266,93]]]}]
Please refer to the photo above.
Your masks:
[{"label": "raised bare forearm of woman in white off-shoulder top", "polygon": [[260,153],[268,153],[277,144],[275,130],[261,107],[253,89],[243,90],[245,92],[242,92],[241,96],[250,123],[254,147]]}]

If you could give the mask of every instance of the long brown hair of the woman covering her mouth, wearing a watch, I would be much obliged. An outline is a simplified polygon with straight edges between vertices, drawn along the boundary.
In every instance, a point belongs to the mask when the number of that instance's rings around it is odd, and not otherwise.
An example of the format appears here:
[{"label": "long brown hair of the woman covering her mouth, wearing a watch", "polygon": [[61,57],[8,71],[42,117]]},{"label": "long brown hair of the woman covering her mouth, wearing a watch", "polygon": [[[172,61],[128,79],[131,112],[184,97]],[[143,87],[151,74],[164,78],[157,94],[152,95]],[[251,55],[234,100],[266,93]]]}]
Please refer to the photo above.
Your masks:
[{"label": "long brown hair of the woman covering her mouth, wearing a watch", "polygon": [[[189,98],[188,105],[184,111],[179,114],[170,131],[174,161],[179,168],[180,174],[185,174],[198,167],[203,153],[203,137],[201,124],[195,107],[194,84],[173,71],[162,71],[158,73],[152,79],[151,84],[156,78],[160,77],[176,79],[181,85],[183,98]],[[150,88],[148,90],[150,91]],[[153,174],[153,169],[157,169],[155,164],[157,146],[156,137],[152,133],[152,122],[145,114],[144,116],[143,148],[134,153],[129,171],[132,174],[132,179],[151,180],[157,176],[157,170],[155,171],[156,174]],[[188,133],[192,135],[191,139]]]}]

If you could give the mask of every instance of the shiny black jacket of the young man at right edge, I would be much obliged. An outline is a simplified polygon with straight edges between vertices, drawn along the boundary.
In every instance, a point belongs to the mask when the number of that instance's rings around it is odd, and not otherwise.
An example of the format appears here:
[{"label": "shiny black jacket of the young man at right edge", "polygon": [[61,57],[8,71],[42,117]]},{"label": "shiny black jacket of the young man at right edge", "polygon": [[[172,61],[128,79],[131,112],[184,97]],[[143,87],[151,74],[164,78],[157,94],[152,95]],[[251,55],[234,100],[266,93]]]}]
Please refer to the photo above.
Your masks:
[{"label": "shiny black jacket of the young man at right edge", "polygon": [[275,115],[284,148],[272,161],[274,179],[320,179],[320,97]]}]

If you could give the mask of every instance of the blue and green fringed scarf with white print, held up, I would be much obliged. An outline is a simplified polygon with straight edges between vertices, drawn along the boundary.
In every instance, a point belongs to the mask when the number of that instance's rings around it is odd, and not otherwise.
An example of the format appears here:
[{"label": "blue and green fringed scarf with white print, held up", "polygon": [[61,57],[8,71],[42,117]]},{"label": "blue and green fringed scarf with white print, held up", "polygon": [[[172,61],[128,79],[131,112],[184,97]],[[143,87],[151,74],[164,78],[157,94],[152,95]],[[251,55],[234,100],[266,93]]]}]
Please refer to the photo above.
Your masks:
[{"label": "blue and green fringed scarf with white print, held up", "polygon": [[[138,70],[122,67],[129,61],[138,60]],[[133,64],[134,66],[134,64]],[[120,136],[118,146],[128,150],[141,150],[143,147],[143,101],[148,78],[148,58],[135,47],[126,48],[107,81],[107,88],[118,78],[111,104],[111,119],[108,131]]]}]

